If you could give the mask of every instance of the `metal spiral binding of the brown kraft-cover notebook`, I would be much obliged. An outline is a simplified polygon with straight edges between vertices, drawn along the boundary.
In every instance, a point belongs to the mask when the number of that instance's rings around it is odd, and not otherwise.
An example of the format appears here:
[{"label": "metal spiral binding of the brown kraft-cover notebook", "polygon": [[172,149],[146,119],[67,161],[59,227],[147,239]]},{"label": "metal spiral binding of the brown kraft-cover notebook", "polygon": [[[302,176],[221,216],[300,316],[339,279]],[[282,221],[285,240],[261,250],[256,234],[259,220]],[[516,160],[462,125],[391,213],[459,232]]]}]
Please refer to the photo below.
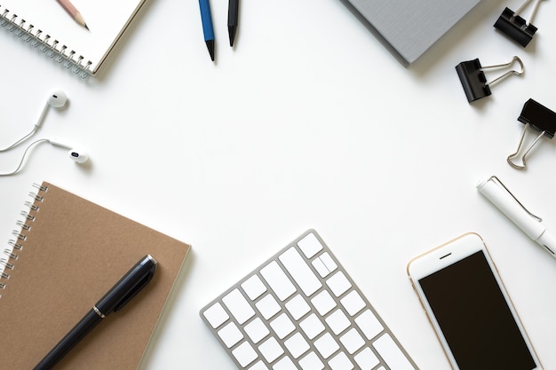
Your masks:
[{"label": "metal spiral binding of the brown kraft-cover notebook", "polygon": [[[42,202],[44,200],[43,195],[40,193],[45,193],[48,191],[48,186],[33,184],[39,191],[39,193],[30,192],[29,196],[33,198],[34,201],[26,201],[25,205],[31,209],[31,211],[36,212],[40,209],[40,206],[36,202]],[[23,242],[27,240],[28,232],[31,231],[32,224],[36,219],[36,216],[29,213],[27,210],[23,210],[20,216],[25,217],[25,220],[18,220],[16,224],[20,227],[19,230],[13,230],[12,235],[15,239],[8,240],[8,246],[10,248],[4,248],[4,252],[0,258],[0,290],[5,289],[6,282],[4,280],[10,279],[11,271],[15,268],[15,264],[20,258],[20,251],[23,249]],[[0,294],[0,298],[2,295]]]}]

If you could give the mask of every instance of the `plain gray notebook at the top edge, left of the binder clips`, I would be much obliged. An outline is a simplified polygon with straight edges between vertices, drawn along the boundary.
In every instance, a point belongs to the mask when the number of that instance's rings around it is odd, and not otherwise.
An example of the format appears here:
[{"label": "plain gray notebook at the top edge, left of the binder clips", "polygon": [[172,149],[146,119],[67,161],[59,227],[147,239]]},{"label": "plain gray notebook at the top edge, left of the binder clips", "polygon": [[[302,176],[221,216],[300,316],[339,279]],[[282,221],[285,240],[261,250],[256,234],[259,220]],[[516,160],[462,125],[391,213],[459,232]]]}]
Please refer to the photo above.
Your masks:
[{"label": "plain gray notebook at the top edge, left of the binder clips", "polygon": [[342,0],[409,66],[481,0]]}]

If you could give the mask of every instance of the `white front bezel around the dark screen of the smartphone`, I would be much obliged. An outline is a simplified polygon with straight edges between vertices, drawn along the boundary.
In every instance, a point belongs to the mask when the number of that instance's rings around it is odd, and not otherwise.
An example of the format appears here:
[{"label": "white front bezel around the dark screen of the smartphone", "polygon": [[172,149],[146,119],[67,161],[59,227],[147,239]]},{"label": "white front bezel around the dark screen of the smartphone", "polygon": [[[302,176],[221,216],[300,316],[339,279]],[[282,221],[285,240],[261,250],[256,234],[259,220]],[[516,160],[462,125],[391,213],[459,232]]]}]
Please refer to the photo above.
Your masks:
[{"label": "white front bezel around the dark screen of the smartphone", "polygon": [[411,261],[409,261],[407,267],[408,276],[411,280],[411,284],[413,285],[413,288],[417,293],[419,301],[425,309],[425,313],[434,328],[436,336],[441,342],[442,349],[444,350],[446,357],[449,359],[450,365],[454,370],[459,370],[459,366],[457,366],[456,363],[456,358],[454,358],[451,350],[449,349],[448,342],[442,334],[441,327],[434,317],[433,310],[429,305],[425,293],[419,284],[419,279],[423,279],[426,276],[429,276],[432,273],[437,272],[451,264],[455,264],[457,261],[462,260],[466,256],[471,256],[473,255],[473,253],[476,253],[478,251],[482,251],[484,253],[490,270],[493,272],[496,282],[498,283],[498,287],[500,287],[500,290],[504,295],[504,299],[506,303],[508,303],[510,311],[512,311],[513,319],[515,320],[517,326],[520,328],[521,335],[523,335],[523,338],[528,346],[528,350],[530,351],[533,359],[536,362],[536,367],[533,370],[542,370],[543,367],[541,365],[541,362],[536,356],[536,351],[528,338],[525,327],[523,327],[517,311],[515,311],[515,308],[513,307],[512,300],[504,287],[504,282],[498,275],[496,265],[488,254],[487,246],[485,245],[481,236],[475,232],[467,232],[454,240],[450,240],[449,242],[442,244],[440,247],[433,248],[433,250],[425,253],[424,255],[413,258]]}]

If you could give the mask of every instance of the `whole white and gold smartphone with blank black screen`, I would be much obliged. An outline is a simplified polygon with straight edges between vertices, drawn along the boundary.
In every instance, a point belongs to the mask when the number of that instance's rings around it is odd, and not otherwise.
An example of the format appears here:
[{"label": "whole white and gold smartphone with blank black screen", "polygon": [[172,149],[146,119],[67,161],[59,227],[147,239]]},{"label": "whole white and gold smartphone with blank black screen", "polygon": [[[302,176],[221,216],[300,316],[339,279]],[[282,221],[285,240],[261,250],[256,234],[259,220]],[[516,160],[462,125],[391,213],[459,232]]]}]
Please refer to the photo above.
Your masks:
[{"label": "whole white and gold smartphone with blank black screen", "polygon": [[543,368],[481,236],[417,256],[408,275],[452,368]]}]

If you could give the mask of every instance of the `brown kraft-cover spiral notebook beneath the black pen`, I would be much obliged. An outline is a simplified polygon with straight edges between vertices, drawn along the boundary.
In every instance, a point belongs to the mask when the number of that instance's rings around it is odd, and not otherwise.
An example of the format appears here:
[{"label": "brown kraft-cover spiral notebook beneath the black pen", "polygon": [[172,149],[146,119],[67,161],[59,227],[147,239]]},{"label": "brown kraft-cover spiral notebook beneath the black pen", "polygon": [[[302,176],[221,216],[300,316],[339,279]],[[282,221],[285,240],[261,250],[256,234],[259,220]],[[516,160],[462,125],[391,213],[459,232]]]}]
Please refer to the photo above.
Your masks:
[{"label": "brown kraft-cover spiral notebook beneath the black pen", "polygon": [[49,183],[36,185],[2,254],[0,362],[31,369],[139,258],[155,277],[57,370],[139,366],[190,246]]}]

